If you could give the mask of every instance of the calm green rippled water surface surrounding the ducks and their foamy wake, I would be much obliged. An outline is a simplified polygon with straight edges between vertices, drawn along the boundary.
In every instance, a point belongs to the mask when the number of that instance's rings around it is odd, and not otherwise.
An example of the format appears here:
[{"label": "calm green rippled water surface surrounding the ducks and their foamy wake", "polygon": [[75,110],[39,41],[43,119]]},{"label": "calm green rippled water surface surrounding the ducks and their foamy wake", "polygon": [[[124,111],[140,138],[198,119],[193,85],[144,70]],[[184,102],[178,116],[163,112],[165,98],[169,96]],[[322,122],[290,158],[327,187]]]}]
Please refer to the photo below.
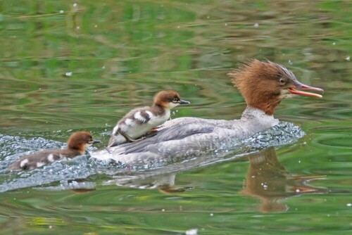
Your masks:
[{"label": "calm green rippled water surface surrounding the ducks and their foamy wake", "polygon": [[[3,136],[65,142],[85,129],[105,144],[122,115],[161,89],[191,101],[172,118],[239,118],[244,99],[227,72],[248,58],[281,63],[325,89],[322,99],[277,108],[276,118],[306,132],[295,144],[180,171],[172,189],[104,184],[114,177],[94,174],[86,179],[93,191],[6,191],[1,234],[351,234],[351,6],[0,1]],[[32,150],[1,140],[3,161]],[[269,167],[256,175],[263,155]]]}]

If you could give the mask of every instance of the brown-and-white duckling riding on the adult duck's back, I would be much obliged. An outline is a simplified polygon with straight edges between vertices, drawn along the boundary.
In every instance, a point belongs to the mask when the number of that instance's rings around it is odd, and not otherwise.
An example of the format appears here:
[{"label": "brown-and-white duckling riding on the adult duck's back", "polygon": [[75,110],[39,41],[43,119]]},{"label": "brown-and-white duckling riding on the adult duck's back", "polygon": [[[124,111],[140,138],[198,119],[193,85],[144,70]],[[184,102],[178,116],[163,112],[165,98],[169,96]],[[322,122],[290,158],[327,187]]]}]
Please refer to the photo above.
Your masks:
[{"label": "brown-and-white duckling riding on the adult duck's back", "polygon": [[184,103],[189,103],[189,101],[182,101],[176,91],[158,92],[154,96],[153,106],[134,108],[118,121],[113,128],[108,147],[145,139],[144,134],[170,118],[170,109]]}]

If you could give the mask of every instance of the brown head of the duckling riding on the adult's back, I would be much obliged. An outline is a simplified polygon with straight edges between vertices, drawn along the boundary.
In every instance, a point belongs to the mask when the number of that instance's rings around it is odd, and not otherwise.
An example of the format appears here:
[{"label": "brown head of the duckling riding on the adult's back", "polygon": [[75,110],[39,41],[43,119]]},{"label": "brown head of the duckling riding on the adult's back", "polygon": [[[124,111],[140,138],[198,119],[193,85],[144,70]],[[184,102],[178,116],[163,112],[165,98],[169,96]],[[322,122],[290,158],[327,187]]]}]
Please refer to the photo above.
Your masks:
[{"label": "brown head of the duckling riding on the adult's back", "polygon": [[180,95],[176,91],[165,90],[158,92],[158,94],[154,96],[153,105],[171,109],[185,103],[189,103],[189,101],[182,101]]}]

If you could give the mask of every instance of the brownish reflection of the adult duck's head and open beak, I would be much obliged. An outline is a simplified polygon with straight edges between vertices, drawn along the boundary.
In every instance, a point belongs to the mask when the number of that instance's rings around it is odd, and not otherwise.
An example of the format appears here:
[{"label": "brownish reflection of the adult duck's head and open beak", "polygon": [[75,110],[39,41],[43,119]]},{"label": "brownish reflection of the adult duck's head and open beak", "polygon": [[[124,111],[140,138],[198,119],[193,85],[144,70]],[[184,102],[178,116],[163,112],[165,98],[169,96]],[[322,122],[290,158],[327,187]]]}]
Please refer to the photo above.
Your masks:
[{"label": "brownish reflection of the adult duck's head and open beak", "polygon": [[327,193],[326,188],[310,186],[310,181],[325,176],[293,176],[285,170],[276,157],[275,148],[249,155],[249,169],[241,194],[260,200],[260,212],[287,210],[282,200],[301,194]]}]

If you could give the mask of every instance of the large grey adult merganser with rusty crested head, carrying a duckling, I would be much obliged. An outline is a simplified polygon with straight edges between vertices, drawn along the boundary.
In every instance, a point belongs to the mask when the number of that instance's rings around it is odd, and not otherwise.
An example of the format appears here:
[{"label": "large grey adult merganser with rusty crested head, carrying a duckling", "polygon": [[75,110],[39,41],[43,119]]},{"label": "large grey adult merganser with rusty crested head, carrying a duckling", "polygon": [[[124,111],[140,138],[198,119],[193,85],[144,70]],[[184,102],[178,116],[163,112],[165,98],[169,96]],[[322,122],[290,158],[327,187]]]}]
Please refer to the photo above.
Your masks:
[{"label": "large grey adult merganser with rusty crested head, carrying a duckling", "polygon": [[323,92],[320,88],[298,82],[291,71],[270,61],[249,61],[239,65],[239,69],[229,75],[247,103],[240,120],[176,118],[165,122],[163,129],[155,136],[93,152],[92,157],[140,165],[170,163],[177,158],[201,155],[277,125],[279,121],[273,117],[273,113],[284,98],[294,95],[322,97],[320,94],[298,91]]}]

